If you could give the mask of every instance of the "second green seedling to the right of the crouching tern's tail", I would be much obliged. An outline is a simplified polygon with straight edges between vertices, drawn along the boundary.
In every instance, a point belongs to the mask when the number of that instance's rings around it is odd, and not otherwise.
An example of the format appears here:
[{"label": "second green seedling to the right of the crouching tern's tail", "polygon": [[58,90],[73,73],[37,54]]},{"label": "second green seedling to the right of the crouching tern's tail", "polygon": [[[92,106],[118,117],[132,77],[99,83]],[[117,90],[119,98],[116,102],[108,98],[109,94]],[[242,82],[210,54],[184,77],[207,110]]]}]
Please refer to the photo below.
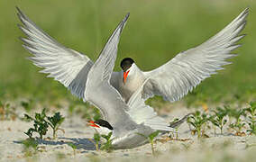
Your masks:
[{"label": "second green seedling to the right of the crouching tern's tail", "polygon": [[210,116],[209,121],[211,121],[216,127],[221,130],[221,134],[223,134],[224,124],[227,122],[224,117],[227,115],[227,111],[224,108],[217,107],[216,111],[212,111],[215,114]]}]

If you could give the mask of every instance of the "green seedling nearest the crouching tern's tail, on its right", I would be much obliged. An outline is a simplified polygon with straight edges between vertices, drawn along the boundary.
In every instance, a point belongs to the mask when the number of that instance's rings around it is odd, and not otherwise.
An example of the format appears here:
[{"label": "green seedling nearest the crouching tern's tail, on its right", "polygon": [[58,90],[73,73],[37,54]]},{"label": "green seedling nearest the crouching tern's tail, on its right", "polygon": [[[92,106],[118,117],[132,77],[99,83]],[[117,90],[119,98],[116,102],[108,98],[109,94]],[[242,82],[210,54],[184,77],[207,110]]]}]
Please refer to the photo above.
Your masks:
[{"label": "green seedling nearest the crouching tern's tail, on its right", "polygon": [[202,129],[204,124],[208,121],[206,113],[201,113],[199,111],[193,113],[187,118],[187,123],[192,125],[197,130],[197,138],[201,138],[203,136]]}]

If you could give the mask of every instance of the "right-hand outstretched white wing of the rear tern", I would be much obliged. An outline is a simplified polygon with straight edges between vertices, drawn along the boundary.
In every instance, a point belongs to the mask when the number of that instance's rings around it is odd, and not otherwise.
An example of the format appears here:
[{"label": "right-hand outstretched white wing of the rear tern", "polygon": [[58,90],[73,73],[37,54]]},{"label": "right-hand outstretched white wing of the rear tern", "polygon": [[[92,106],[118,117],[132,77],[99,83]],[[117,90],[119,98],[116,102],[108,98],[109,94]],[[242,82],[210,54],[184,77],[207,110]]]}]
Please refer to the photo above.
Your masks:
[{"label": "right-hand outstretched white wing of the rear tern", "polygon": [[203,44],[179,53],[155,70],[144,72],[150,80],[144,86],[143,97],[157,94],[175,102],[206,77],[215,74],[216,70],[223,69],[222,66],[230,63],[225,60],[235,56],[231,52],[240,47],[235,43],[244,36],[238,35],[245,26],[248,10],[246,8],[232,23]]}]

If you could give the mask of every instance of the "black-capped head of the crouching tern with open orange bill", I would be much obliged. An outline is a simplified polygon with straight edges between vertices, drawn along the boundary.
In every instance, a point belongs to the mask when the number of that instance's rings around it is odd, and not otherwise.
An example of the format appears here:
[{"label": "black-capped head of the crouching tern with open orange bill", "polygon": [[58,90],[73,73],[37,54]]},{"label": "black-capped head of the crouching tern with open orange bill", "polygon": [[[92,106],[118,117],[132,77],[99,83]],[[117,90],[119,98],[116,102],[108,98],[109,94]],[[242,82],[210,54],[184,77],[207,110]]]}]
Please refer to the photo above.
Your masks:
[{"label": "black-capped head of the crouching tern with open orange bill", "polygon": [[101,119],[96,121],[89,121],[88,125],[93,127],[99,134],[107,135],[109,132],[114,130],[108,121]]}]

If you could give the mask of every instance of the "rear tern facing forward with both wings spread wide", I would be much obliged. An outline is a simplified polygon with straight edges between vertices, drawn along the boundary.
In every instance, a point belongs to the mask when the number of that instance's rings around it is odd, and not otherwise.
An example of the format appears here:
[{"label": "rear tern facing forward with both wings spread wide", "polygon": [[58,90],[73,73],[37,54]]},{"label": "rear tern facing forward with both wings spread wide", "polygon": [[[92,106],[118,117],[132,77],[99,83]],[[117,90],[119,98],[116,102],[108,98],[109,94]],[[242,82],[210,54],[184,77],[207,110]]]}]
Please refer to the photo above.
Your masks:
[{"label": "rear tern facing forward with both wings spread wide", "polygon": [[[86,55],[61,45],[17,10],[24,25],[19,27],[28,36],[27,39],[22,38],[23,47],[33,54],[30,58],[33,64],[43,67],[41,73],[50,74],[48,77],[54,77],[68,87],[72,94],[87,101],[87,75],[94,62]],[[170,102],[178,101],[201,81],[229,64],[227,58],[236,56],[231,52],[241,46],[236,42],[244,37],[239,34],[246,24],[248,12],[246,8],[215,36],[196,48],[178,53],[175,58],[154,70],[144,72],[136,66],[133,58],[124,58],[121,62],[122,71],[112,73],[110,84],[119,91],[126,103],[145,80],[147,82],[142,89],[144,99],[156,94]]]}]

